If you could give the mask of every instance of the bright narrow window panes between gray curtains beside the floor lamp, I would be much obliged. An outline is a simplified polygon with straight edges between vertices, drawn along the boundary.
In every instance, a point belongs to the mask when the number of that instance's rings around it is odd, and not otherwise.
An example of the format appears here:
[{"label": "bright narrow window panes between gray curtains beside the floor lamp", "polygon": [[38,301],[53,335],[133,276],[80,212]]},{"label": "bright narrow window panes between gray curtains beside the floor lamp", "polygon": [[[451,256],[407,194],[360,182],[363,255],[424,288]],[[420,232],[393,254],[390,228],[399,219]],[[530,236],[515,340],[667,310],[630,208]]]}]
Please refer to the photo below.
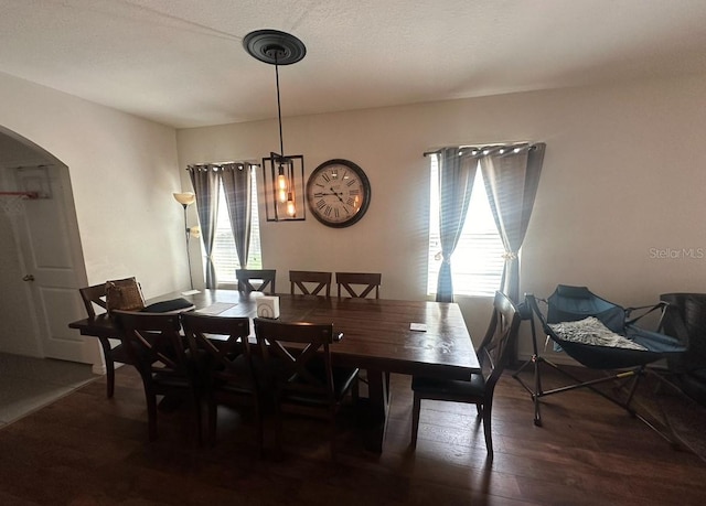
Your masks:
[{"label": "bright narrow window panes between gray curtains beside the floor lamp", "polygon": [[[250,171],[253,174],[250,187],[253,223],[250,225],[250,249],[247,266],[250,269],[261,269],[260,226],[257,213],[257,172],[255,166]],[[218,216],[216,217],[216,238],[213,245],[213,263],[216,268],[216,278],[220,287],[237,283],[235,270],[240,268],[240,262],[235,250],[235,240],[231,229],[231,218],[228,217],[228,206],[225,202],[223,184],[218,185]]]}]

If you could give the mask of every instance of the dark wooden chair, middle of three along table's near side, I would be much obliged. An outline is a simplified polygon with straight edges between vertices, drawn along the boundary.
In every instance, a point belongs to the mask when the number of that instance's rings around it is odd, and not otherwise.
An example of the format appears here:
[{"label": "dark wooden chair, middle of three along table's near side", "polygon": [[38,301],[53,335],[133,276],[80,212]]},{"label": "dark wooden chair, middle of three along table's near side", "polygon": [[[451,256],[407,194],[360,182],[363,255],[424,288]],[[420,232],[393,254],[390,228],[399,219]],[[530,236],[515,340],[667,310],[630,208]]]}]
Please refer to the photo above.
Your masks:
[{"label": "dark wooden chair, middle of three along table's near side", "polygon": [[205,355],[200,377],[207,401],[208,442],[215,443],[218,405],[254,409],[257,441],[263,450],[263,420],[257,376],[250,354],[250,321],[247,317],[182,313],[181,322],[193,356]]}]

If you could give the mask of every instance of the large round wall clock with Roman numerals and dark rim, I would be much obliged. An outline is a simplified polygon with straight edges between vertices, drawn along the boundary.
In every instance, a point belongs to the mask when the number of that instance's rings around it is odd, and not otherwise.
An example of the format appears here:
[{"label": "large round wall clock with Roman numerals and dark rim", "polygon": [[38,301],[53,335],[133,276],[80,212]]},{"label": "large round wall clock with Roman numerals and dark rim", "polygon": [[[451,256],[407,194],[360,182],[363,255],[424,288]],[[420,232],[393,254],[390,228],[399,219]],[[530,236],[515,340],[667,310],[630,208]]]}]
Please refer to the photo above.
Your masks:
[{"label": "large round wall clock with Roman numerals and dark rim", "polygon": [[371,203],[371,184],[363,169],[347,160],[329,160],[307,182],[307,202],[314,217],[330,227],[347,227],[363,217]]}]

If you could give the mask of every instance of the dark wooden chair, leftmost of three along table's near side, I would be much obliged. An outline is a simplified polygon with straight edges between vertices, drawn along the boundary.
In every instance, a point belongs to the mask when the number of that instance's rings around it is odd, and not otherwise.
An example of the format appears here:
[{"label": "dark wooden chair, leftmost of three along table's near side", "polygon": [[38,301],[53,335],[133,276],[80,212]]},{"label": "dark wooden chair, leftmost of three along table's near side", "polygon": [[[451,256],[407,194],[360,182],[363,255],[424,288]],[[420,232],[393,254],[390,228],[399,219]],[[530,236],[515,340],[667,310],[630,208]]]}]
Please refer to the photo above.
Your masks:
[{"label": "dark wooden chair, leftmost of three along table's near side", "polygon": [[149,440],[157,439],[157,396],[189,395],[201,443],[201,381],[181,335],[179,314],[114,311],[116,326],[140,374],[147,401]]}]

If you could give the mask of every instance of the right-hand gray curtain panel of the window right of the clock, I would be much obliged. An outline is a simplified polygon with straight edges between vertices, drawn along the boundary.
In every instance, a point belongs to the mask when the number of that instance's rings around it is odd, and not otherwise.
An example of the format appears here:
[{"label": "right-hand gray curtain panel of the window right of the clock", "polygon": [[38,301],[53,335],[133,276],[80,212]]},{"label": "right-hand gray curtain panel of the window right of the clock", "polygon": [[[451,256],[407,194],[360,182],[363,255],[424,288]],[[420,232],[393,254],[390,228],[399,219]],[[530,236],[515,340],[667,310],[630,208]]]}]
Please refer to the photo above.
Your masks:
[{"label": "right-hand gray curtain panel of the window right of the clock", "polygon": [[488,200],[505,247],[501,291],[520,301],[520,248],[539,184],[544,143],[491,147],[480,159]]}]

